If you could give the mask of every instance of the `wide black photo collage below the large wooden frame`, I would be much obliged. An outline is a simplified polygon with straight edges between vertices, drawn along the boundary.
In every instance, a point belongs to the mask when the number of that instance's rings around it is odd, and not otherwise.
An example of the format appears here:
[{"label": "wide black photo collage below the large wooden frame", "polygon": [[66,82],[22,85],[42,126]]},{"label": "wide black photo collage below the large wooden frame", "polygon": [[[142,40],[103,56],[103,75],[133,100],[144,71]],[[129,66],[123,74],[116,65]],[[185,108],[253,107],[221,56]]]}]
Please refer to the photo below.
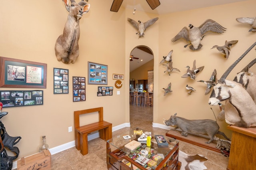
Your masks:
[{"label": "wide black photo collage below the large wooden frame", "polygon": [[43,91],[0,91],[3,107],[43,105]]}]

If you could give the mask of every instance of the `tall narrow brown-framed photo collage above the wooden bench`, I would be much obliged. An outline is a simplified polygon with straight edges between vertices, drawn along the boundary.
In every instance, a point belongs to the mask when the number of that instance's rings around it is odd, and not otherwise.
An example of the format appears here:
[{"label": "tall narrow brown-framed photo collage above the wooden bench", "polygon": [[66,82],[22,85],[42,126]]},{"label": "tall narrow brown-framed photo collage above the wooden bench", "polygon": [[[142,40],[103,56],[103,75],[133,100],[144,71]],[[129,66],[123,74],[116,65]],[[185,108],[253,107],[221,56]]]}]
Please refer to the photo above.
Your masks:
[{"label": "tall narrow brown-framed photo collage above the wooden bench", "polygon": [[73,101],[86,101],[85,77],[73,77]]}]

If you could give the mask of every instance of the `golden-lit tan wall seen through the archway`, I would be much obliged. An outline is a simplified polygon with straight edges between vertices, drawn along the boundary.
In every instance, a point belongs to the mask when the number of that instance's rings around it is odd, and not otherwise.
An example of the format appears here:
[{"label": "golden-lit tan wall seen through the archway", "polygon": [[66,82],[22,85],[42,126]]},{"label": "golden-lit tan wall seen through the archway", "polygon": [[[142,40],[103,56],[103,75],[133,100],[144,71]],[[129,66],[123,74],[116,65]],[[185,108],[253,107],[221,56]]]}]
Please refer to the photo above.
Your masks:
[{"label": "golden-lit tan wall seen through the archway", "polygon": [[143,64],[139,68],[130,72],[130,79],[135,80],[135,84],[138,83],[138,80],[147,80],[148,79],[148,71],[154,69],[154,59],[148,61]]}]

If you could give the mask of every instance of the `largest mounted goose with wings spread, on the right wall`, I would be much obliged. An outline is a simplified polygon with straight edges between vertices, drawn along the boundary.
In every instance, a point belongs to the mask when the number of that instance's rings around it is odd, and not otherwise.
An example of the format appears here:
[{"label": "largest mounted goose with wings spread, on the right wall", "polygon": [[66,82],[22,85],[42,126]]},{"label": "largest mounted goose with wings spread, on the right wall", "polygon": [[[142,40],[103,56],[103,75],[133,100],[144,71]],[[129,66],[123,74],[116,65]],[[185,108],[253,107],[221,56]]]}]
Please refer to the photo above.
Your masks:
[{"label": "largest mounted goose with wings spread, on the right wall", "polygon": [[[187,42],[190,42],[189,44],[192,44],[189,46],[191,50],[199,50],[202,48],[203,45],[200,41],[204,38],[206,32],[223,33],[226,31],[226,28],[211,19],[206,20],[199,27],[195,27],[192,24],[189,24],[188,27],[189,29],[187,27],[182,28],[182,30],[172,38],[172,42],[176,42],[180,38],[183,38]],[[186,48],[189,44],[184,47]]]}]

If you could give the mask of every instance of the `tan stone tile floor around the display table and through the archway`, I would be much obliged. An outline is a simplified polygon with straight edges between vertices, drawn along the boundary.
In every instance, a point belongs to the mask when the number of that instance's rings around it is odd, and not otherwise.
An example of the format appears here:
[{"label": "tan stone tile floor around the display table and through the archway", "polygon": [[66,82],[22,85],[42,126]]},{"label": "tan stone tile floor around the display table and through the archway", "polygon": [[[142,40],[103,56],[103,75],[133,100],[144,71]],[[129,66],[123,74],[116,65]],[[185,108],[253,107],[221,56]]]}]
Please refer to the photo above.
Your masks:
[{"label": "tan stone tile floor around the display table and through the archway", "polygon": [[[130,125],[113,132],[112,136],[123,134],[129,128],[141,128],[165,134],[168,130],[152,127],[152,107],[130,105]],[[143,121],[142,121],[143,120]],[[204,163],[208,170],[226,170],[228,158],[222,154],[180,141],[180,150],[194,155],[202,154],[208,158]],[[88,154],[82,156],[75,147],[52,155],[52,170],[107,170],[106,142],[100,138],[88,142]]]}]

